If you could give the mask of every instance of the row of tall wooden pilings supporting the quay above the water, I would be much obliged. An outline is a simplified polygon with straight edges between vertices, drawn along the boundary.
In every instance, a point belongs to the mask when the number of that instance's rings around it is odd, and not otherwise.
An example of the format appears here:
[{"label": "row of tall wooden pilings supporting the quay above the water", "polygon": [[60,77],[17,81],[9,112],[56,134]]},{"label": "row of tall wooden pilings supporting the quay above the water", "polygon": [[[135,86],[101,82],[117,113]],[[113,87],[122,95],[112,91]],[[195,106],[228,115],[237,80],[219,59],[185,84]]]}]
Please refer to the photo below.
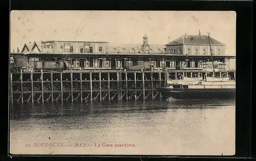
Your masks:
[{"label": "row of tall wooden pilings supporting the quay above the water", "polygon": [[[162,100],[165,98],[157,88],[165,87],[167,79],[195,77],[200,74],[162,71],[21,71],[10,74],[10,102]],[[204,75],[205,73],[201,76]]]}]

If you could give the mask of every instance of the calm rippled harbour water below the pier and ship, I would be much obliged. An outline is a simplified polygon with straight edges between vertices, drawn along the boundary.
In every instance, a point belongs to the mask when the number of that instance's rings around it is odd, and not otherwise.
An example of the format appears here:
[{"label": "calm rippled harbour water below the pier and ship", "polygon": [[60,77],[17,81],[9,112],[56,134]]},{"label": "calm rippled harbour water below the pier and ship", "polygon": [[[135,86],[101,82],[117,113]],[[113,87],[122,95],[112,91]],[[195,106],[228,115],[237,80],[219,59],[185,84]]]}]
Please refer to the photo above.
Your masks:
[{"label": "calm rippled harbour water below the pier and ship", "polygon": [[233,155],[234,149],[235,100],[10,107],[13,154]]}]

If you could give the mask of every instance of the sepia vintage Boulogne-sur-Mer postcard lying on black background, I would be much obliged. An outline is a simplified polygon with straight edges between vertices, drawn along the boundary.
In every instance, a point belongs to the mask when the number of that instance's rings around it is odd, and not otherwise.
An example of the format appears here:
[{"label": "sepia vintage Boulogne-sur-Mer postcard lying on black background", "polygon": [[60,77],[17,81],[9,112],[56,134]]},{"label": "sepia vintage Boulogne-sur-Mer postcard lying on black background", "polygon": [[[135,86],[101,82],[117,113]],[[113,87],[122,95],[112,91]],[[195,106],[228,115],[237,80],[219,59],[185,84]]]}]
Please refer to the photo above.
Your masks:
[{"label": "sepia vintage Boulogne-sur-Mer postcard lying on black background", "polygon": [[11,12],[12,155],[234,155],[235,93],[236,12]]}]

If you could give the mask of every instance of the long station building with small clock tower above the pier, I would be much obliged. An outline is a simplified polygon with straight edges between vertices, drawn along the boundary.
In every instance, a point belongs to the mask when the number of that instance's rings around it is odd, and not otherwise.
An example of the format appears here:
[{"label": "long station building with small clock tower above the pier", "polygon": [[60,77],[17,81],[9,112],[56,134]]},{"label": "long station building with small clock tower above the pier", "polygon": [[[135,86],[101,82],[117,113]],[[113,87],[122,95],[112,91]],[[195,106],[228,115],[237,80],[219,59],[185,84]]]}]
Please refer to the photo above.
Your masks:
[{"label": "long station building with small clock tower above the pier", "polygon": [[[209,41],[210,45],[209,46]],[[211,51],[210,51],[211,49]],[[146,34],[141,44],[112,44],[107,41],[40,41],[24,44],[18,53],[27,56],[27,68],[63,61],[65,70],[122,70],[138,62],[154,62],[156,70],[203,70],[202,62],[215,63],[225,71],[225,44],[202,35],[181,35],[166,44],[150,44]],[[12,54],[12,53],[11,53]],[[14,54],[14,53],[13,53]],[[15,54],[14,54],[15,55]],[[50,65],[50,63],[48,63]]]}]

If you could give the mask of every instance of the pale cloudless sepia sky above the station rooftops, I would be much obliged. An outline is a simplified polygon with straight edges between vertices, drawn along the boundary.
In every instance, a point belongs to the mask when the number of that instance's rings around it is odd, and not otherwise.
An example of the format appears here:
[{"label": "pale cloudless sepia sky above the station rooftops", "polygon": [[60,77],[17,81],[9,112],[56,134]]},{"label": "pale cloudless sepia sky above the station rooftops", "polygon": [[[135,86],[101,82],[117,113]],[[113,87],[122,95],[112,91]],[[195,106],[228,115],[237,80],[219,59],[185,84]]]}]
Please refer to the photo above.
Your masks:
[{"label": "pale cloudless sepia sky above the station rooftops", "polygon": [[10,51],[46,40],[166,44],[183,34],[210,36],[236,55],[233,11],[12,11]]}]

